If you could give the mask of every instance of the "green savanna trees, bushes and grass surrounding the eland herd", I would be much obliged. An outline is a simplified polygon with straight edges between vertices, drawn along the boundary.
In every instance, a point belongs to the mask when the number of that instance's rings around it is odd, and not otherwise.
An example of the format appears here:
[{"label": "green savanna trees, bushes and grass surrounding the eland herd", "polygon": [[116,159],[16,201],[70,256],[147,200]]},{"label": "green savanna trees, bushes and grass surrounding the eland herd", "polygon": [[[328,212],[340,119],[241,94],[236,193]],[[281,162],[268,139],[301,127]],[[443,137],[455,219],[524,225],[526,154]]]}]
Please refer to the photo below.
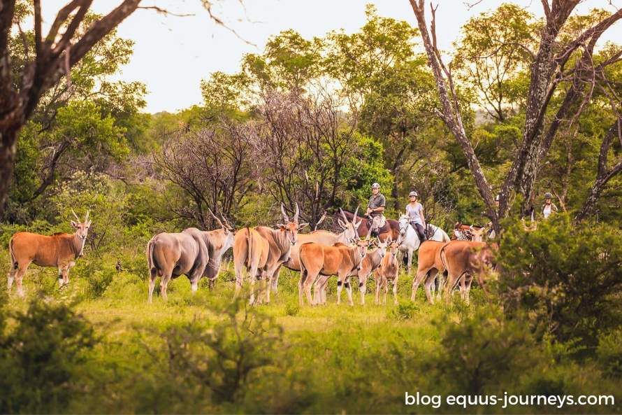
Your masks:
[{"label": "green savanna trees, bushes and grass surrounding the eland herd", "polygon": [[[22,299],[0,279],[0,413],[621,412],[622,46],[599,42],[621,10],[554,2],[540,18],[507,3],[468,21],[449,66],[422,1],[417,28],[368,6],[356,33],[275,34],[237,73],[206,74],[201,106],[147,114],[145,85],[110,80],[132,53],[118,22],[76,8],[52,48],[55,36],[22,30],[38,2],[8,3],[2,150],[17,138],[0,178],[0,269],[17,231],[72,232],[72,209],[92,226],[68,286],[31,265]],[[71,42],[81,55],[63,66]],[[21,93],[34,101],[17,126],[5,97]],[[328,211],[319,227],[336,230],[333,213],[364,208],[373,182],[387,217],[416,189],[446,231],[493,223],[499,271],[470,306],[421,290],[411,302],[403,272],[398,304],[373,304],[368,281],[364,307],[334,304],[334,286],[326,307],[300,307],[298,273],[283,269],[273,301],[251,307],[231,302],[230,253],[214,290],[203,279],[191,295],[181,277],[147,304],[157,232],[211,229],[208,208],[237,228],[273,225],[282,203],[311,228]],[[559,208],[547,220],[544,192]],[[417,391],[442,402],[405,405]],[[505,392],[614,403],[445,400]]]}]

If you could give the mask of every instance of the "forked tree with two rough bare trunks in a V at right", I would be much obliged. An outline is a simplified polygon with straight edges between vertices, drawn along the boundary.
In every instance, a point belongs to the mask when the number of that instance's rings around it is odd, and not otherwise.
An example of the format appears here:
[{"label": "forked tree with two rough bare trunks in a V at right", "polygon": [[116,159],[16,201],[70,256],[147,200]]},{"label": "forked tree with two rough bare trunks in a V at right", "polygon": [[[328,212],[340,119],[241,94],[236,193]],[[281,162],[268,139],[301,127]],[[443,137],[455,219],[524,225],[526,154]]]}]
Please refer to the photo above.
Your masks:
[{"label": "forked tree with two rough bare trunks in a V at right", "polygon": [[[526,101],[525,122],[522,131],[522,141],[514,155],[512,167],[509,169],[505,183],[500,192],[500,204],[497,211],[491,187],[489,186],[477,155],[473,151],[470,139],[465,132],[461,108],[458,106],[456,85],[450,69],[442,62],[440,51],[435,38],[435,8],[432,8],[433,20],[428,30],[424,13],[424,0],[410,0],[410,4],[417,17],[421,38],[426,48],[428,62],[431,64],[437,83],[437,90],[441,100],[441,110],[437,115],[442,118],[451,133],[460,144],[467,159],[471,173],[480,197],[484,200],[488,210],[486,216],[491,218],[493,227],[500,231],[499,217],[505,216],[509,204],[516,194],[523,195],[523,208],[530,203],[533,187],[540,170],[542,160],[554,140],[560,126],[574,114],[575,104],[583,100],[590,101],[591,93],[585,93],[586,88],[594,85],[596,79],[602,76],[601,70],[609,64],[619,61],[622,50],[614,53],[610,59],[600,63],[597,67],[592,59],[594,48],[602,33],[622,17],[622,8],[607,17],[598,19],[588,27],[581,27],[576,33],[563,31],[570,14],[579,3],[579,0],[558,2],[551,6],[542,1],[544,8],[544,27],[540,31],[540,43],[537,52],[531,52],[530,86]],[[572,22],[572,21],[571,21]],[[565,91],[559,91],[562,83],[569,83]],[[551,99],[558,92],[563,94],[562,104],[556,109],[551,108]],[[579,111],[581,111],[580,106]],[[546,125],[547,111],[554,111],[555,115],[549,125]]]}]

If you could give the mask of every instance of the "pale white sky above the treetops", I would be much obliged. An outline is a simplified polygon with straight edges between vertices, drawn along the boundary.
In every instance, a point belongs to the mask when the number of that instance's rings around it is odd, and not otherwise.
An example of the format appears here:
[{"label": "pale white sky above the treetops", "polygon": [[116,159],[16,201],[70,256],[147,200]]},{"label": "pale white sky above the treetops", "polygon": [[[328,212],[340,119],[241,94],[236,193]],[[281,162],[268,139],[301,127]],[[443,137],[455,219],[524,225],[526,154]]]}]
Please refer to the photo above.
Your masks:
[{"label": "pale white sky above the treetops", "polygon": [[[44,20],[51,22],[67,1],[42,1]],[[543,15],[539,0],[505,2]],[[108,13],[119,3],[120,0],[94,0],[92,10]],[[201,79],[208,79],[216,71],[238,72],[243,55],[261,54],[268,38],[280,31],[294,29],[308,39],[340,29],[352,34],[365,24],[368,3],[375,4],[379,16],[405,20],[417,27],[409,0],[212,0],[212,13],[231,30],[210,20],[201,3],[201,0],[143,1],[143,7],[157,6],[183,16],[163,15],[144,8],[120,24],[119,36],[136,44],[131,62],[122,68],[118,78],[147,85],[150,93],[145,112],[176,112],[201,104]],[[437,41],[440,48],[448,49],[470,17],[497,8],[503,1],[435,0],[434,3],[438,5]],[[466,3],[475,5],[468,7]],[[614,11],[616,6],[621,7],[622,0],[584,0],[577,10],[588,13],[591,8],[600,7]],[[426,9],[429,14],[429,6]],[[622,24],[609,29],[603,38],[622,39]]]}]

